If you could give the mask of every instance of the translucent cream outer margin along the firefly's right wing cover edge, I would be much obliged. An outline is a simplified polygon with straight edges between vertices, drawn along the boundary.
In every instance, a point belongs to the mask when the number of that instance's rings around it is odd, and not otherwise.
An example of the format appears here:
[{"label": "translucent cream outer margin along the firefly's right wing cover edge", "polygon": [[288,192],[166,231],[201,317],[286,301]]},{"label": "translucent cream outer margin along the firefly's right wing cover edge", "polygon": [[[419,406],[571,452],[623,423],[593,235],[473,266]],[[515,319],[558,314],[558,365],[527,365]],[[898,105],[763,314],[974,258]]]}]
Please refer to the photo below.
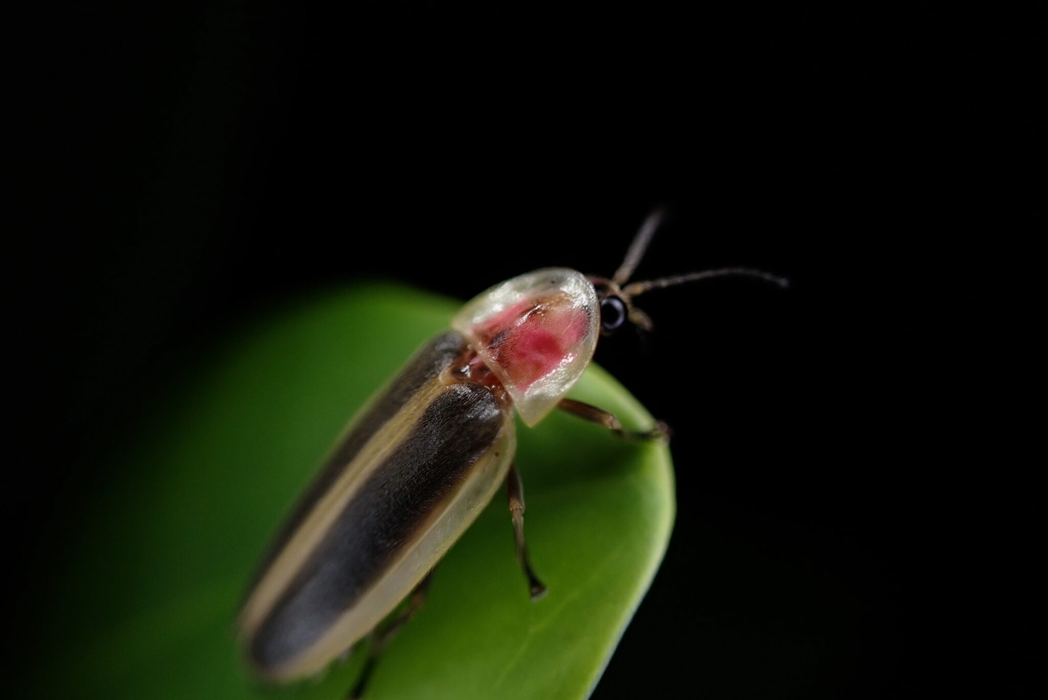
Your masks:
[{"label": "translucent cream outer margin along the firefly's right wing cover edge", "polygon": [[418,528],[417,534],[401,551],[397,563],[368,587],[323,636],[297,657],[275,669],[270,677],[289,680],[320,673],[330,659],[345,652],[386,617],[387,612],[411,593],[490,502],[505,481],[516,444],[514,419],[508,414],[503,418],[499,437],[449,497],[446,507],[434,509],[433,516]]}]

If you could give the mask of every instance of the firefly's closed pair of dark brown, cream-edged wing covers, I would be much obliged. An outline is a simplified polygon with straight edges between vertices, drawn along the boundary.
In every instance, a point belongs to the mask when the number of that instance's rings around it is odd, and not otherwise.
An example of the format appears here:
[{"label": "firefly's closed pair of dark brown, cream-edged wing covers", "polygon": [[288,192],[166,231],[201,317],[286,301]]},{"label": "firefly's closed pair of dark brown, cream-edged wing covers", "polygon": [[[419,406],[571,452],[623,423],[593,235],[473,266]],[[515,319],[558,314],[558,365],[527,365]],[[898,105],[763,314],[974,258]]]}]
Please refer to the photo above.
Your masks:
[{"label": "firefly's closed pair of dark brown, cream-edged wing covers", "polygon": [[437,336],[359,416],[264,562],[241,632],[261,675],[321,671],[411,592],[490,500],[515,447],[509,408],[455,378]]}]

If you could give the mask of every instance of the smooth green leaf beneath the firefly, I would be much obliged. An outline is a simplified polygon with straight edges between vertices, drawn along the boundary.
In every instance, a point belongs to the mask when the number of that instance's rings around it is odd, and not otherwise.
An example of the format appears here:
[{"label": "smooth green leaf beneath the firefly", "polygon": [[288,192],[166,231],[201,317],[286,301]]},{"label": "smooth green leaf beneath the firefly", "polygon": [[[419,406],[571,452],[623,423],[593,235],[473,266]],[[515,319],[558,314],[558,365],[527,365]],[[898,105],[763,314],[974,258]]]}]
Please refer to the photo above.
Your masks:
[{"label": "smooth green leaf beneath the firefly", "polygon": [[[235,634],[268,538],[345,421],[455,305],[370,285],[284,309],[195,372],[152,428],[127,436],[118,479],[75,528],[48,596],[28,697],[344,697],[363,654],[320,680],[260,687]],[[571,396],[627,426],[652,418],[591,366]],[[518,423],[526,532],[548,595],[532,603],[496,498],[438,565],[425,607],[387,648],[384,698],[585,698],[665,550],[673,476],[662,444],[561,412]]]}]

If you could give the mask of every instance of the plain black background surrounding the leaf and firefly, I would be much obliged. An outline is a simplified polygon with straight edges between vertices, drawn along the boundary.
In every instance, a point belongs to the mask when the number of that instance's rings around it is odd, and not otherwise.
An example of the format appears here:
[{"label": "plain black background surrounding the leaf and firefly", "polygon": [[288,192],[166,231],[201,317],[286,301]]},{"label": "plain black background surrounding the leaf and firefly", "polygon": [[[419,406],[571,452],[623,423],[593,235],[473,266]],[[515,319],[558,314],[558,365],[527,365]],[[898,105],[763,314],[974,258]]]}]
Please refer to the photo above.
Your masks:
[{"label": "plain black background surrounding the leaf and firefly", "polygon": [[653,292],[655,332],[598,349],[676,430],[679,515],[594,698],[1032,697],[1038,18],[191,0],[31,28],[27,561],[246,320],[361,277],[609,275],[665,203],[640,276],[793,284]]}]

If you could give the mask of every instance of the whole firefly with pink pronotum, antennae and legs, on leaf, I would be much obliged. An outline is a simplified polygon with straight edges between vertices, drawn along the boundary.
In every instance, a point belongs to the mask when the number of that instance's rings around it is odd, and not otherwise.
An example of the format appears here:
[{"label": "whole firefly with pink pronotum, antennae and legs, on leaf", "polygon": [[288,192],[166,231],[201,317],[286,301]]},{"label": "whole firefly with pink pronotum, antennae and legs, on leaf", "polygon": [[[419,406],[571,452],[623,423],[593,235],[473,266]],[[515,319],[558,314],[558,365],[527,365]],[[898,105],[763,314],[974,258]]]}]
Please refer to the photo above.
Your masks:
[{"label": "whole firefly with pink pronotum, antennae and legs, on leaf", "polygon": [[651,329],[633,304],[650,289],[725,275],[786,285],[747,268],[628,283],[660,219],[655,212],[645,221],[610,279],[551,267],[482,292],[353,418],[243,606],[240,637],[260,678],[315,675],[368,638],[351,691],[359,697],[383,647],[421,606],[436,564],[503,484],[529,594],[545,594],[524,539],[514,410],[528,426],[562,409],[625,437],[664,439],[661,424],[625,431],[613,414],[565,397],[597,338],[627,323]]}]

